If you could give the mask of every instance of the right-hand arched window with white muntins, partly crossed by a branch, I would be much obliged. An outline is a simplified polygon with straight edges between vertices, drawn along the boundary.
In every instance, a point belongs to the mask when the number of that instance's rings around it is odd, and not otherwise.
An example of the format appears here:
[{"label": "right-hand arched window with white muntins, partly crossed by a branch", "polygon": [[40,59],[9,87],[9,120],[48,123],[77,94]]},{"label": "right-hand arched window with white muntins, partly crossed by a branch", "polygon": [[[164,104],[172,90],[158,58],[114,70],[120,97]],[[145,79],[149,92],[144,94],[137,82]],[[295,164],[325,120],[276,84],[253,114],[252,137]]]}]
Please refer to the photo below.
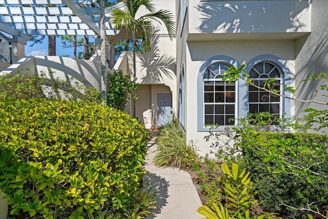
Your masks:
[{"label": "right-hand arched window with white muntins, partly crossed by a branch", "polygon": [[[250,70],[250,79],[255,86],[261,88],[275,89],[278,94],[281,92],[282,74],[278,67],[270,62],[260,62],[252,67]],[[276,82],[271,84],[271,88],[264,86],[264,81],[268,79],[276,79]],[[281,97],[263,91],[260,88],[249,85],[248,105],[250,113],[269,112],[281,115]]]}]

